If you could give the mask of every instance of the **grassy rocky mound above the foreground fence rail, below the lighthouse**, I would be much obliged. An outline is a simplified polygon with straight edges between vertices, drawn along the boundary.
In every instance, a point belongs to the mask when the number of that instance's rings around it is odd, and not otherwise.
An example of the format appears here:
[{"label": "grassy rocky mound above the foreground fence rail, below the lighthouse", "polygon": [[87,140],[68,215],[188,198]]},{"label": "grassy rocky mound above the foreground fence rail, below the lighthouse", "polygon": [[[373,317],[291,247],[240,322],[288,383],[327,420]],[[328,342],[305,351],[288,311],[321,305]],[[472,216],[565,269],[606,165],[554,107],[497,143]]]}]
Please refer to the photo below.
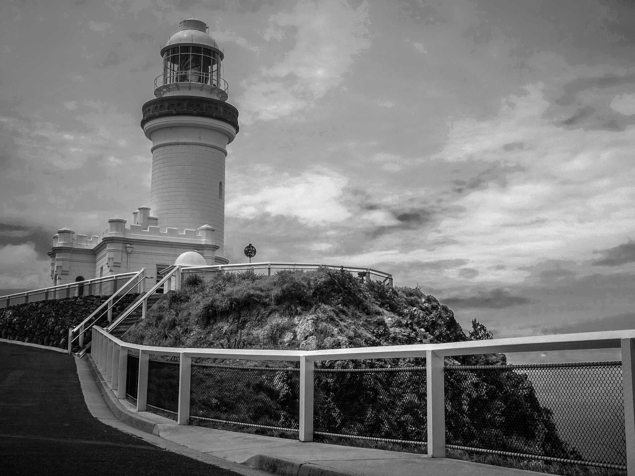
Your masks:
[{"label": "grassy rocky mound above the foreground fence rail, below the lighthouse", "polygon": [[[190,276],[124,336],[168,347],[371,347],[491,338],[472,322],[465,334],[450,308],[420,288],[387,288],[344,270]],[[504,355],[465,357],[495,364]],[[464,362],[467,363],[467,362]]]}]

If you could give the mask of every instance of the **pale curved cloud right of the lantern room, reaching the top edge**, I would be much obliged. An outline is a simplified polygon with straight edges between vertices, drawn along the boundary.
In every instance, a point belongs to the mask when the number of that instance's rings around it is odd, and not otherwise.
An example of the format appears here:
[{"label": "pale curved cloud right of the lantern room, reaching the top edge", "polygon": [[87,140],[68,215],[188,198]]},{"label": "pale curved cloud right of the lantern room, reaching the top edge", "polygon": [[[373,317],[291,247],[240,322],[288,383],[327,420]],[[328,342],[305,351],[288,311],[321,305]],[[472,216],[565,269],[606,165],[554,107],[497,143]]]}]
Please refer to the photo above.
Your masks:
[{"label": "pale curved cloud right of the lantern room, reaching the top edge", "polygon": [[265,39],[282,39],[286,30],[297,29],[295,45],[245,83],[238,100],[245,124],[279,119],[323,98],[342,83],[353,56],[370,46],[366,2],[353,9],[340,0],[300,0],[291,13],[277,13],[270,23]]}]

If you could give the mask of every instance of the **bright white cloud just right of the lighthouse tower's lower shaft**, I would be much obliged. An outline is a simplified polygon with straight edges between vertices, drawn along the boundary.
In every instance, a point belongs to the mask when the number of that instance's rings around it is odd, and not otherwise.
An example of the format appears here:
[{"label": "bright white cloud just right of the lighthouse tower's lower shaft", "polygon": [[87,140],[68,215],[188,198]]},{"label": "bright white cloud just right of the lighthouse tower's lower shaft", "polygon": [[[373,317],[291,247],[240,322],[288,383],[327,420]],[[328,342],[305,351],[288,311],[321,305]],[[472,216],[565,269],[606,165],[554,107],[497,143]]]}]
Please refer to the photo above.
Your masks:
[{"label": "bright white cloud just right of the lighthouse tower's lower shaft", "polygon": [[[264,185],[274,183],[275,185]],[[314,169],[298,176],[258,176],[227,203],[227,215],[255,218],[264,213],[297,218],[306,225],[338,223],[351,213],[340,202],[348,179],[326,169]],[[258,186],[260,184],[260,186]],[[253,190],[257,190],[253,192]]]}]

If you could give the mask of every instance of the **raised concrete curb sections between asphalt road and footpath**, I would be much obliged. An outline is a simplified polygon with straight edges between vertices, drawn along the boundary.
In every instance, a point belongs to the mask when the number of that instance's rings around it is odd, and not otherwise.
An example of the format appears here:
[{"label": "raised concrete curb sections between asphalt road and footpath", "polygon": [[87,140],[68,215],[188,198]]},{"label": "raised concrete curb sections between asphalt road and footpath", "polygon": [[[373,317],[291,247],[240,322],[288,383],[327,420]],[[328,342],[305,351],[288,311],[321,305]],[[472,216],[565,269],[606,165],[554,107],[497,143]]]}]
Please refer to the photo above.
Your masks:
[{"label": "raised concrete curb sections between asphalt road and footpath", "polygon": [[[95,383],[97,383],[97,388],[102,394],[102,398],[112,414],[114,414],[118,420],[123,421],[127,425],[133,426],[133,428],[161,437],[161,435],[159,435],[159,429],[157,428],[159,423],[148,420],[147,418],[126,409],[126,407],[124,407],[119,399],[117,399],[112,393],[109,385],[104,380],[104,376],[102,376],[102,374],[97,370],[97,365],[95,364],[95,360],[93,360],[93,356],[86,354],[86,359],[88,359],[88,367],[90,367],[90,372],[93,374]],[[157,415],[157,418],[163,417],[159,417]],[[166,420],[166,423],[176,425],[173,420],[168,420],[168,418],[165,418],[164,420]],[[267,456],[265,454],[257,454],[240,464],[242,466],[247,466],[248,468],[262,470],[281,476],[351,476],[353,474],[324,468],[324,466],[315,465],[314,463],[281,459],[274,456]]]}]

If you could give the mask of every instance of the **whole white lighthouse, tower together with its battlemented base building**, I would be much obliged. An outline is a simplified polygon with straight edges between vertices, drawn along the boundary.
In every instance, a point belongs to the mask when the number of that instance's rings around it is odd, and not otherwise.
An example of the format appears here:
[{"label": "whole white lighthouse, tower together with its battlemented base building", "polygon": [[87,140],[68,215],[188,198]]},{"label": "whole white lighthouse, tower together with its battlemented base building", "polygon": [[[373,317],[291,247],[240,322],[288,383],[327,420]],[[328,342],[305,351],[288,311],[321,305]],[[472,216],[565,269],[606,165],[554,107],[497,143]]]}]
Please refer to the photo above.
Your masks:
[{"label": "whole white lighthouse, tower together with its battlemented base building", "polygon": [[226,102],[224,55],[207,30],[194,18],[179,24],[161,50],[156,98],[142,107],[141,127],[152,141],[150,206],[133,211],[130,223],[110,218],[98,236],[58,230],[48,253],[53,284],[141,268],[158,276],[187,251],[208,265],[229,262],[223,256],[225,157],[238,133],[238,110]]}]

